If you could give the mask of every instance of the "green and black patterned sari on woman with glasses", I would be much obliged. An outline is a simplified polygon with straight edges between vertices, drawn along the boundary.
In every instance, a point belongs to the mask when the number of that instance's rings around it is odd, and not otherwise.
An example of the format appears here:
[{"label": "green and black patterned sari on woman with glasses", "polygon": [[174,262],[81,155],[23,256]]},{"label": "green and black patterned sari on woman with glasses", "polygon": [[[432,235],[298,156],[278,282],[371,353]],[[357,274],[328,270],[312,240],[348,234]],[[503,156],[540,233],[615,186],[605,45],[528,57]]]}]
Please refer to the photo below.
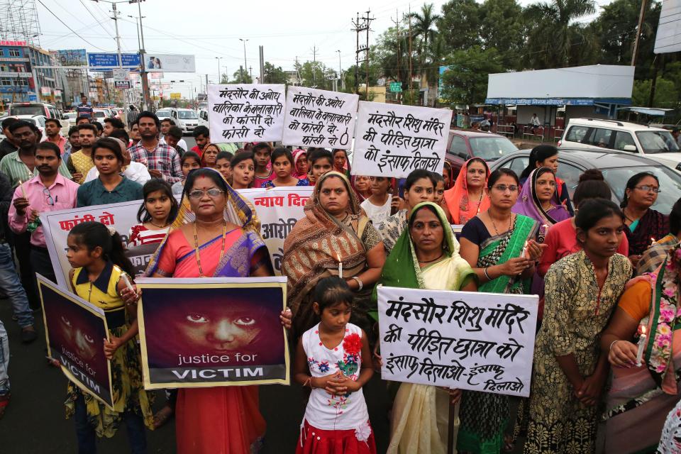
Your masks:
[{"label": "green and black patterned sari on woman with glasses", "polygon": [[[511,230],[491,236],[478,246],[480,255],[477,267],[500,265],[519,257],[525,242],[534,238],[538,223],[527,216],[518,215]],[[462,233],[463,235],[463,233]],[[525,294],[530,279],[499,276],[478,287],[478,292]],[[504,431],[511,413],[509,397],[503,394],[464,391],[461,397],[457,449],[477,454],[498,454],[504,445]]]}]

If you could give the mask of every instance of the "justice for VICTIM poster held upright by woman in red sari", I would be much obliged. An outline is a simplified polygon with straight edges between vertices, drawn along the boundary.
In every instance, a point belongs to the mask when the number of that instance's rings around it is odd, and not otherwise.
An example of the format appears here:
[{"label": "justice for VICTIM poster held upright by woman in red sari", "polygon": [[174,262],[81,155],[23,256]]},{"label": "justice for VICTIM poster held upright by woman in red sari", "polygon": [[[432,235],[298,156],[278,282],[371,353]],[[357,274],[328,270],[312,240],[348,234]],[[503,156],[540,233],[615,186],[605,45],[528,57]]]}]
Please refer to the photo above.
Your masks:
[{"label": "justice for VICTIM poster held upright by woman in red sari", "polygon": [[279,320],[286,278],[141,278],[137,284],[145,389],[289,384]]}]

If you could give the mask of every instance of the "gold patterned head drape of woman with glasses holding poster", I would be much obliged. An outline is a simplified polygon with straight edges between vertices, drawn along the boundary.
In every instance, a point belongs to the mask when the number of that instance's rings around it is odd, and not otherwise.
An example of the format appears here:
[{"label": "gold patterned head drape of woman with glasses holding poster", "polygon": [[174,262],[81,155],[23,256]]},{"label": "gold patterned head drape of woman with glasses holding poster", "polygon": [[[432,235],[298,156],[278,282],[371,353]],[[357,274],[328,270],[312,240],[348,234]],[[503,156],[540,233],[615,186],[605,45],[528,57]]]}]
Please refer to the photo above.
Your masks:
[{"label": "gold patterned head drape of woman with glasses holding poster", "polygon": [[[224,180],[224,177],[220,172],[215,169],[210,170],[212,172],[216,172]],[[250,206],[250,203],[243,199],[243,197],[240,196],[236,190],[232,189],[226,180],[225,183],[227,185],[227,203],[225,204],[225,210],[223,211],[225,221],[240,226],[246,233],[254,233],[262,241],[262,238],[260,237],[260,221],[258,220],[258,216],[255,214],[255,209],[253,209],[253,207]],[[188,189],[189,188],[185,187],[185,191]],[[165,243],[167,242],[170,233],[175,231],[177,228],[184,226],[184,224],[192,223],[195,220],[196,214],[194,214],[192,207],[189,205],[189,197],[187,196],[187,192],[184,192],[182,194],[182,201],[179,204],[179,210],[177,211],[175,221],[170,224],[168,233],[166,233],[165,238],[151,258],[149,265],[147,265],[147,269],[144,272],[145,277],[149,277],[156,272],[158,260],[161,256],[163,248],[165,248]]]}]

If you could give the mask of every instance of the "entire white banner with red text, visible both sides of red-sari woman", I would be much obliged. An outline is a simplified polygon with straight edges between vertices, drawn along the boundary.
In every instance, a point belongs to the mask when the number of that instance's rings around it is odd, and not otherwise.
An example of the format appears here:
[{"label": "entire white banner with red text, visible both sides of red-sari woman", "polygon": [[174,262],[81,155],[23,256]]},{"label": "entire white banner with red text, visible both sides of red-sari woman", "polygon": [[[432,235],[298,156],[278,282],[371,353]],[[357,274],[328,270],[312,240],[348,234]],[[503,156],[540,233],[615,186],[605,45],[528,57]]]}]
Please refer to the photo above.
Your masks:
[{"label": "entire white banner with red text, visible both sides of red-sari woman", "polygon": [[[313,187],[275,187],[272,189],[240,189],[244,199],[250,201],[260,221],[260,233],[270,251],[275,274],[282,274],[284,239],[295,223],[304,216],[303,207],[312,195]],[[40,214],[45,232],[45,243],[50,252],[52,267],[55,269],[57,284],[68,286],[71,265],[66,258],[67,237],[77,224],[97,221],[111,226],[128,242],[128,233],[138,223],[137,212],[141,200],[126,201],[121,204],[85,206],[60,211],[45,211]],[[128,258],[135,267],[135,274],[145,270],[157,245],[144,245],[128,249]]]}]

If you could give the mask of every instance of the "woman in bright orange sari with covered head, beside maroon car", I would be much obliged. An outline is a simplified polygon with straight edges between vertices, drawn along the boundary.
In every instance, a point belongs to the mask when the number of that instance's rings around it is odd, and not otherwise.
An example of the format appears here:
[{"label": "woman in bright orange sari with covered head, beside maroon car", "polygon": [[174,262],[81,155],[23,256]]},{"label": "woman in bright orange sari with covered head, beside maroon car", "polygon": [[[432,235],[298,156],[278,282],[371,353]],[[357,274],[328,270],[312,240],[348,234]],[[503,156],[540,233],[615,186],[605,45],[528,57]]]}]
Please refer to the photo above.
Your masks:
[{"label": "woman in bright orange sari with covered head, beside maroon car", "polygon": [[464,163],[454,186],[445,191],[445,211],[448,211],[451,223],[465,224],[489,209],[489,197],[485,189],[487,178],[489,167],[485,160],[473,157]]}]

